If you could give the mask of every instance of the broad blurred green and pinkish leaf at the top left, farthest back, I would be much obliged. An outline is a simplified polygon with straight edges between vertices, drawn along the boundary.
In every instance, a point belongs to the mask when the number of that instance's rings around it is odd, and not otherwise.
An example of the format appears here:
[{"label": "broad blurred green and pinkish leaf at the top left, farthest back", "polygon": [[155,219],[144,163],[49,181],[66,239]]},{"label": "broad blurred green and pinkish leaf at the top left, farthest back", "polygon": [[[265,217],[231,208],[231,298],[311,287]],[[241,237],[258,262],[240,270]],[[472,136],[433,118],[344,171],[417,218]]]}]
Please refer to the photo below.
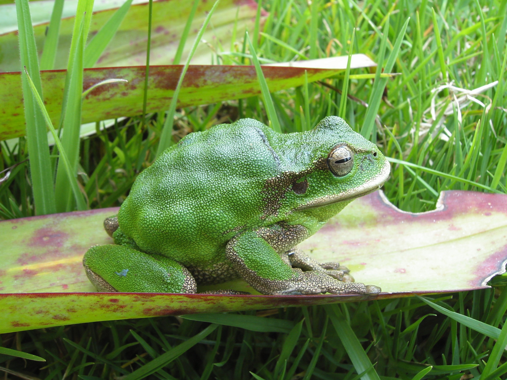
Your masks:
[{"label": "broad blurred green and pinkish leaf at the top left, farthest back", "polygon": [[[50,2],[44,2],[50,3]],[[99,3],[99,2],[96,2]],[[102,2],[100,2],[102,3]],[[114,6],[115,2],[109,1],[104,4],[97,4],[92,17],[89,35],[93,37],[110,20],[118,8],[107,9]],[[190,28],[187,44],[183,50],[183,59],[191,48],[191,43],[197,35],[197,30],[202,25],[207,12],[211,9],[211,2],[199,2],[196,17]],[[240,3],[240,4],[238,4]],[[118,2],[116,2],[116,5]],[[38,7],[44,4],[38,4]],[[48,6],[47,6],[48,7]],[[74,6],[76,7],[76,6]],[[8,13],[11,5],[0,5],[0,14]],[[51,14],[52,3],[43,14]],[[182,37],[185,23],[192,9],[192,2],[182,1],[154,1],[152,20],[152,50],[150,62],[152,65],[167,65],[172,63],[178,43]],[[217,44],[229,45],[232,29],[237,23],[237,35],[243,35],[247,28],[253,29],[257,13],[257,3],[253,0],[222,0],[213,17],[213,28],[209,29],[203,37],[207,44],[200,44],[194,56],[193,64],[209,64],[213,56],[213,50]],[[76,9],[74,9],[74,14]],[[265,15],[265,14],[264,14]],[[264,16],[263,15],[263,16]],[[56,65],[54,68],[66,67],[69,54],[69,46],[74,26],[75,17],[67,17],[68,11],[64,9],[63,18],[59,30],[59,42],[56,52]],[[264,22],[262,17],[261,22]],[[2,24],[0,22],[0,24]],[[37,46],[44,46],[46,28],[49,22],[34,26],[34,36]],[[17,47],[17,32],[13,30],[0,34],[0,71],[20,71],[19,49]],[[95,67],[132,66],[146,62],[146,38],[148,30],[148,2],[136,4],[129,8],[123,22],[120,24],[116,35],[110,44],[100,55]],[[212,45],[210,47],[209,45]]]}]

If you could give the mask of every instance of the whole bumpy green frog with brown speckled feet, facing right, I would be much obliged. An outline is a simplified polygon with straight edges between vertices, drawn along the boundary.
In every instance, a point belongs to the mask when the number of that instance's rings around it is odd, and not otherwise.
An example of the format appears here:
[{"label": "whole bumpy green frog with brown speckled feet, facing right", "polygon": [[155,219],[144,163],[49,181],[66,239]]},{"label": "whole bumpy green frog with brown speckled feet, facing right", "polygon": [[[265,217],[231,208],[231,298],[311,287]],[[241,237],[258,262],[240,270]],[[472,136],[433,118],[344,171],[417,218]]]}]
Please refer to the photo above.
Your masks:
[{"label": "whole bumpy green frog with brown speckled feet, facing right", "polygon": [[115,244],[91,247],[85,272],[99,292],[195,293],[243,279],[266,295],[375,295],[339,262],[296,247],[389,171],[376,144],[336,116],[304,132],[253,119],[193,132],[137,176],[104,221]]}]

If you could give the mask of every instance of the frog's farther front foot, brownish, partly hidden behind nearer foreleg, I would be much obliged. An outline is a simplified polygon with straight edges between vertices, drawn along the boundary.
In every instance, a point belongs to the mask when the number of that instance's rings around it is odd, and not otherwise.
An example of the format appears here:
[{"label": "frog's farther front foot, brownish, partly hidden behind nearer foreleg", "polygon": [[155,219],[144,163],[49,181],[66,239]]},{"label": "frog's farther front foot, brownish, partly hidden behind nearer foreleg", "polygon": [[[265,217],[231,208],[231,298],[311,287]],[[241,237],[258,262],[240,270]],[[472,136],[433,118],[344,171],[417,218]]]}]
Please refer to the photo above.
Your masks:
[{"label": "frog's farther front foot, brownish, partly hidden behind nearer foreleg", "polygon": [[349,269],[338,262],[320,263],[297,249],[282,253],[280,257],[293,268],[300,268],[305,272],[320,271],[342,282],[354,282],[354,278],[349,275]]}]

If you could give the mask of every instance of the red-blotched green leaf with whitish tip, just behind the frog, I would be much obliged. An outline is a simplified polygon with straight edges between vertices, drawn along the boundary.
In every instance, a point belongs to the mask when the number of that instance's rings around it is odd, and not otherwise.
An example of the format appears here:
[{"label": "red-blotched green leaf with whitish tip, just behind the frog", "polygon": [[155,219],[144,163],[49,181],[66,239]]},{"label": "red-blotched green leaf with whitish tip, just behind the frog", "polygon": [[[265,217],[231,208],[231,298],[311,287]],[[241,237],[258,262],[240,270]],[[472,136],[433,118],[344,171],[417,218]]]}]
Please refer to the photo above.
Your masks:
[{"label": "red-blotched green leaf with whitish tip, just behind the frog", "polygon": [[[216,15],[215,15],[216,16]],[[343,65],[344,63],[344,65]],[[352,56],[353,66],[369,67],[375,63],[363,54]],[[272,92],[301,86],[332,77],[347,66],[336,57],[326,62],[328,68],[263,66],[264,76]],[[165,110],[172,99],[183,66],[150,67],[148,112]],[[85,69],[83,89],[86,91],[99,82],[117,79],[127,83],[105,83],[83,99],[81,122],[141,115],[144,90],[144,66]],[[53,125],[58,125],[61,112],[61,94],[65,84],[65,70],[41,71],[46,109]],[[23,136],[25,133],[20,73],[0,73],[0,140]],[[260,94],[255,67],[190,65],[178,95],[177,107],[216,103]]]}]

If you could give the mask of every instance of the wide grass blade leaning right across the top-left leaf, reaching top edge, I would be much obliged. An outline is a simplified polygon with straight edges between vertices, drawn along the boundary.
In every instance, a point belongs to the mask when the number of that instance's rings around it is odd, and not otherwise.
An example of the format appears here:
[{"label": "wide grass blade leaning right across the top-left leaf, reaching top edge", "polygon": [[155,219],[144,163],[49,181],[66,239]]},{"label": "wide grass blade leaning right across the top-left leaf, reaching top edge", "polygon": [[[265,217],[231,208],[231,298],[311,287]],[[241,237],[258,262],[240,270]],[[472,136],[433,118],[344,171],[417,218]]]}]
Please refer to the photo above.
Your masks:
[{"label": "wide grass blade leaning right across the top-left leaf, reaching top edge", "polygon": [[93,67],[98,61],[100,55],[104,52],[107,45],[111,42],[116,31],[123,22],[132,0],[127,0],[111,17],[104,26],[93,36],[85,48],[84,67]]}]

